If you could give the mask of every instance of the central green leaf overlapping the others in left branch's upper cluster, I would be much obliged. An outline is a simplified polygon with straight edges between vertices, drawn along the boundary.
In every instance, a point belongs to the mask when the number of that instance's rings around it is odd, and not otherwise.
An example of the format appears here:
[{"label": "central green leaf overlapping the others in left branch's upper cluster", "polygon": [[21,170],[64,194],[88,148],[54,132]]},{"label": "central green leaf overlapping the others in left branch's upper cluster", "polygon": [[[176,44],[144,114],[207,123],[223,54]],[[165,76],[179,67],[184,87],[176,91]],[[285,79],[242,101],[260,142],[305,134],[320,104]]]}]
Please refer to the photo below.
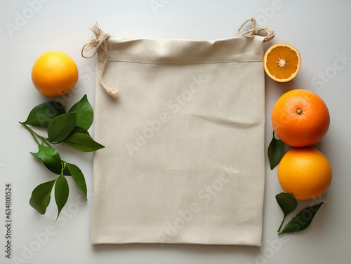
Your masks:
[{"label": "central green leaf overlapping the others in left branch's upper cluster", "polygon": [[72,132],[77,123],[76,113],[64,113],[51,120],[48,124],[48,140],[60,142]]}]

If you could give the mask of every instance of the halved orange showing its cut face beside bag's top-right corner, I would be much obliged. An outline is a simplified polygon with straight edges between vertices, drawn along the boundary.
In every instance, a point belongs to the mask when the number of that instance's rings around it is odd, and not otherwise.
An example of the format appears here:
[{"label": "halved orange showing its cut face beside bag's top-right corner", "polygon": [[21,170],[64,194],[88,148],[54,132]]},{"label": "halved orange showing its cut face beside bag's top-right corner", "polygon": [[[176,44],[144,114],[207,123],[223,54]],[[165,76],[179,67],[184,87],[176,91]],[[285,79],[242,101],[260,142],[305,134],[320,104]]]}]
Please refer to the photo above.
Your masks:
[{"label": "halved orange showing its cut face beside bag's top-right corner", "polygon": [[263,67],[270,78],[287,82],[300,71],[301,56],[298,50],[286,43],[277,43],[268,48],[263,58]]}]

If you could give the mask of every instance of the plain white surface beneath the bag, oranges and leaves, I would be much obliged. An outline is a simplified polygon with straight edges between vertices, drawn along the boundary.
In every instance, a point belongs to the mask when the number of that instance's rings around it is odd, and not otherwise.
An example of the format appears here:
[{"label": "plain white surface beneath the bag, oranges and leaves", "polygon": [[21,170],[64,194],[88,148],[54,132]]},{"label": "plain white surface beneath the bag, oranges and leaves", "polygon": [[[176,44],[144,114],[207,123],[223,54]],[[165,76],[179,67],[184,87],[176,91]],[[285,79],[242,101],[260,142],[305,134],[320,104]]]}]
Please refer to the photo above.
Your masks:
[{"label": "plain white surface beneath the bag, oranges and leaves", "polygon": [[[0,263],[351,263],[350,1],[155,0],[161,3],[156,10],[150,0],[51,0],[34,8],[29,2],[0,1],[0,201],[3,201],[0,219],[5,218],[5,183],[13,186],[13,259],[5,258],[3,227],[0,228]],[[25,16],[25,21],[18,15]],[[225,39],[235,36],[241,22],[251,16],[258,20],[258,25],[274,28],[276,37],[265,43],[265,48],[286,42],[298,48],[302,56],[302,67],[293,81],[276,83],[266,76],[266,145],[272,133],[272,107],[288,90],[305,88],[316,92],[331,113],[329,132],[316,147],[331,162],[333,183],[319,198],[324,206],[309,228],[278,237],[282,211],[275,195],[282,189],[277,180],[277,168],[271,171],[268,161],[261,247],[92,246],[89,228],[93,155],[72,151],[69,147],[59,151],[63,159],[78,165],[84,172],[90,193],[88,202],[81,202],[80,193],[69,181],[69,200],[59,221],[55,222],[57,209],[53,200],[45,216],[29,206],[33,188],[52,178],[29,154],[37,150],[37,145],[18,123],[24,121],[37,104],[53,100],[39,94],[30,78],[32,65],[41,53],[59,50],[77,63],[79,83],[71,93],[60,98],[69,109],[84,94],[94,104],[96,59],[86,60],[80,51],[91,38],[88,28],[95,22],[116,37]],[[6,29],[6,25],[9,26],[6,23],[18,28],[11,32]],[[346,59],[342,61],[339,57]],[[324,80],[319,78],[321,74]],[[300,202],[298,209],[310,203]],[[43,235],[50,229],[51,235]]]}]

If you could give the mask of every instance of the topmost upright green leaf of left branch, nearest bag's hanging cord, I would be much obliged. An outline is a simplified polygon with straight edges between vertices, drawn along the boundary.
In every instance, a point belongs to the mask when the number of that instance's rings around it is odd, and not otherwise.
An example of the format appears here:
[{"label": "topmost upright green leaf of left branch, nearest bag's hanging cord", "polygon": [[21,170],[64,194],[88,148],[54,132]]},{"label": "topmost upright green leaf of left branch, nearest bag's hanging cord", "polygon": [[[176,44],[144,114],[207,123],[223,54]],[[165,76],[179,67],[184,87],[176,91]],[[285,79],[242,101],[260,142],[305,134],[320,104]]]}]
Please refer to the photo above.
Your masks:
[{"label": "topmost upright green leaf of left branch, nearest bag's hanging cord", "polygon": [[91,127],[91,123],[93,123],[93,108],[88,102],[86,95],[77,104],[74,104],[68,112],[77,113],[77,126],[85,130]]}]

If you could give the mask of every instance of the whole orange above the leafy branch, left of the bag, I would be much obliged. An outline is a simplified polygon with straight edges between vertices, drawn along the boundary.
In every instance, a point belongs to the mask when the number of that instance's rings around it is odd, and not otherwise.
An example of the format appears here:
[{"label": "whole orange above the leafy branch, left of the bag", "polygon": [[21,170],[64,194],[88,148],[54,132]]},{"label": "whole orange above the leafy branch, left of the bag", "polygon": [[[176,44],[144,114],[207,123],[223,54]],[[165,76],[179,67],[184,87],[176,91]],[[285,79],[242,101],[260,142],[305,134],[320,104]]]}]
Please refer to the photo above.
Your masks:
[{"label": "whole orange above the leafy branch, left of the bag", "polygon": [[78,81],[77,65],[65,53],[48,51],[34,62],[32,81],[43,95],[64,95],[70,92]]}]

